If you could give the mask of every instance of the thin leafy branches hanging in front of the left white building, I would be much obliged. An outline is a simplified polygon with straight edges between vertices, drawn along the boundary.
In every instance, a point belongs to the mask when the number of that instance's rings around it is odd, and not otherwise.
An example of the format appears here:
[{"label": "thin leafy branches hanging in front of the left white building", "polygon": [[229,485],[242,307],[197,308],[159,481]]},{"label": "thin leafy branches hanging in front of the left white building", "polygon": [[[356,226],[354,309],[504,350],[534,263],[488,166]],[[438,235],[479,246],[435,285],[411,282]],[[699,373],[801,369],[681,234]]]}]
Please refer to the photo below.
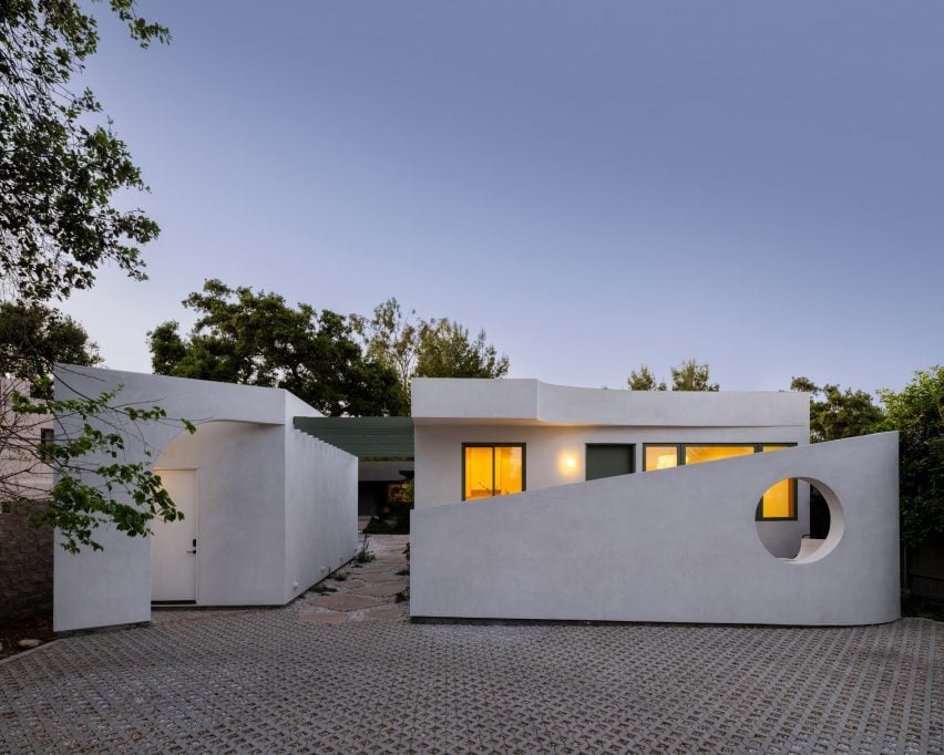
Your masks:
[{"label": "thin leafy branches hanging in front of the left white building", "polygon": [[[49,393],[50,379],[40,381]],[[58,528],[70,552],[78,552],[80,546],[100,550],[92,534],[106,523],[130,536],[144,536],[155,517],[183,518],[150,463],[124,461],[129,426],[164,422],[166,413],[160,406],[114,405],[116,394],[35,401],[20,393],[14,381],[2,382],[0,499],[29,510],[32,527]],[[38,428],[50,420],[55,441],[38,447]],[[194,432],[191,423],[183,424]],[[51,490],[50,476],[54,479]]]}]

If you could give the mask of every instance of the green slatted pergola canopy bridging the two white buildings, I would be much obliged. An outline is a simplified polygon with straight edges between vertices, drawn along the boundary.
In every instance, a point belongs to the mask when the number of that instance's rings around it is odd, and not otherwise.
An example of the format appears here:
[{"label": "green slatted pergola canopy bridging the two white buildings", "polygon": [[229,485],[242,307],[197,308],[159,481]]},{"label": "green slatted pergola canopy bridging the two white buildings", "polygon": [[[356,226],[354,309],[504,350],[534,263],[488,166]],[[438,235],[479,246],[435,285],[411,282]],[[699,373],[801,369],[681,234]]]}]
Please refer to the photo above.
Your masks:
[{"label": "green slatted pergola canopy bridging the two white buildings", "polygon": [[295,428],[359,458],[413,458],[410,417],[295,417]]}]

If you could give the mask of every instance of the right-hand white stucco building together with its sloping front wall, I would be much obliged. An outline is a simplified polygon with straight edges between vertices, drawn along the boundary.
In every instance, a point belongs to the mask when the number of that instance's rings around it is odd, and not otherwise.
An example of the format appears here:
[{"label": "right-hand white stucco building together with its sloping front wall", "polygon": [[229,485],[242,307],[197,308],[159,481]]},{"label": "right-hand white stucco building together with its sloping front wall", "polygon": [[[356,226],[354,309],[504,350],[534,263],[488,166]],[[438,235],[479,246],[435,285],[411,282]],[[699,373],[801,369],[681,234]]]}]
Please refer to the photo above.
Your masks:
[{"label": "right-hand white stucco building together with its sloping front wall", "polygon": [[806,394],[420,379],[412,414],[413,617],[897,618],[897,436],[810,445]]}]

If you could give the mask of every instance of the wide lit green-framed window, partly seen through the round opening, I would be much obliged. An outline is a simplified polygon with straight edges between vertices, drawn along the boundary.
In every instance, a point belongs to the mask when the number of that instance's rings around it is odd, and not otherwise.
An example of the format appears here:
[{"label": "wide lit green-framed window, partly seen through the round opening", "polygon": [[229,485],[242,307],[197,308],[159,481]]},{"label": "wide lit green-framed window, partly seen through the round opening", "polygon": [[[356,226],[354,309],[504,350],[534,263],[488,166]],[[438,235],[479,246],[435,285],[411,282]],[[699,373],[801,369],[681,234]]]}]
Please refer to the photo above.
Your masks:
[{"label": "wide lit green-framed window, partly seen through the round opening", "polygon": [[[743,443],[743,444],[645,444],[643,468],[666,469],[679,464],[700,464],[733,456],[747,456],[765,451],[792,448],[792,443]],[[797,480],[784,479],[768,489],[757,504],[757,519],[777,520],[797,518]]]}]

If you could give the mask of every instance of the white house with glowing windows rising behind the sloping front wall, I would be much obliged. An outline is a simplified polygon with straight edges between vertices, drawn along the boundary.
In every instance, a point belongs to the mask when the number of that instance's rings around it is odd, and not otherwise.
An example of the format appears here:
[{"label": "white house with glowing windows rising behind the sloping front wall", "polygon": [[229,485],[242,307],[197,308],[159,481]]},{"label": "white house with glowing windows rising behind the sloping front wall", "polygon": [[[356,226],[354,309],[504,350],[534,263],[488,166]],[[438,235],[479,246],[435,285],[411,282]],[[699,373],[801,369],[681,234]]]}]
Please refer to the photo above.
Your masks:
[{"label": "white house with glowing windows rising behind the sloping front wall", "polygon": [[[793,391],[417,379],[412,415],[417,508],[810,442],[809,395]],[[800,538],[810,535],[809,501],[808,486],[783,485],[758,507],[760,537],[778,556],[796,556]]]}]

